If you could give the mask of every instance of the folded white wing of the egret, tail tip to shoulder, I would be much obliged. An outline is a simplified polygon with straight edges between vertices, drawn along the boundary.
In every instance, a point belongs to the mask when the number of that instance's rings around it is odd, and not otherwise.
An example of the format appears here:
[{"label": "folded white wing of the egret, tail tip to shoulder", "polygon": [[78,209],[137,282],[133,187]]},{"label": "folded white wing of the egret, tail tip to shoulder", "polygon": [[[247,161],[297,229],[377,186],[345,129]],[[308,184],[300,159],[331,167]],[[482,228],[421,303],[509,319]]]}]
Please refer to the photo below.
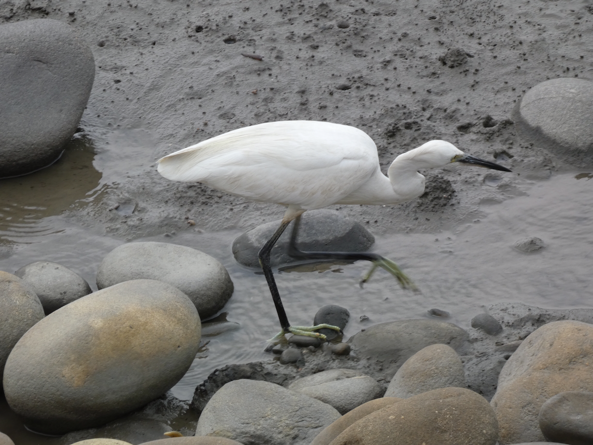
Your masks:
[{"label": "folded white wing of the egret, tail tip to shoulder", "polygon": [[240,128],[159,160],[167,179],[202,182],[252,201],[333,204],[377,169],[377,147],[365,132],[308,120]]}]

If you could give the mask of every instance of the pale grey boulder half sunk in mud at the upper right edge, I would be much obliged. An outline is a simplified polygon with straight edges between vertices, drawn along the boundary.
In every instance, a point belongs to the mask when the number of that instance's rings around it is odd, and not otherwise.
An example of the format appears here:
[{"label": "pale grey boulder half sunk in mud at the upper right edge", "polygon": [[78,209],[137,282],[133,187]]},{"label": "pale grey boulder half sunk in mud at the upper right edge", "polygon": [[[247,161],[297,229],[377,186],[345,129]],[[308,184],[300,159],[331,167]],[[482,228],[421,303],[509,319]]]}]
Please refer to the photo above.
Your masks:
[{"label": "pale grey boulder half sunk in mud at the upper right edge", "polygon": [[519,134],[575,166],[593,163],[593,82],[559,78],[535,85],[521,98]]}]

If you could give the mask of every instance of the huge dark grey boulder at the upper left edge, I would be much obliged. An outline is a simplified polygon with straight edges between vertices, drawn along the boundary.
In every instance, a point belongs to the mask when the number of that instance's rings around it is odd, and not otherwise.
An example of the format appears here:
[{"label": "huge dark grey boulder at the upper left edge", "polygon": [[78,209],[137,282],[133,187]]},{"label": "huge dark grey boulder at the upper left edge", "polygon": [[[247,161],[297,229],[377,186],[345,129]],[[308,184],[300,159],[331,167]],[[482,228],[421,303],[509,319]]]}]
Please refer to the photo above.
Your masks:
[{"label": "huge dark grey boulder at the upper left edge", "polygon": [[95,78],[74,29],[41,18],[0,25],[0,177],[52,164],[74,135]]}]

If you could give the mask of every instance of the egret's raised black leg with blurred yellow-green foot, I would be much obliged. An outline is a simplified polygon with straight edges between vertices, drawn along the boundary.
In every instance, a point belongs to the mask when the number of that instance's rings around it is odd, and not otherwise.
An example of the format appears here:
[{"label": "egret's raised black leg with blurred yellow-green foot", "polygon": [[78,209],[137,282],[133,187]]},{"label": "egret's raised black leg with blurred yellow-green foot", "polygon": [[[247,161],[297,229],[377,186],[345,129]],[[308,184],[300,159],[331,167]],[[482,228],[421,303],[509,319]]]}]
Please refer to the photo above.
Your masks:
[{"label": "egret's raised black leg with blurred yellow-green foot", "polygon": [[297,217],[294,222],[294,226],[292,227],[291,233],[291,240],[288,244],[288,255],[292,256],[292,258],[302,259],[302,260],[367,260],[373,263],[373,267],[371,271],[368,272],[361,279],[361,287],[369,278],[371,278],[372,272],[375,271],[375,268],[381,267],[385,269],[387,272],[390,272],[393,276],[397,278],[397,281],[400,282],[401,287],[404,289],[412,289],[417,290],[416,285],[414,282],[404,274],[401,269],[388,258],[385,258],[377,253],[371,252],[303,252],[297,248],[297,232],[298,227],[301,222],[301,217]]}]

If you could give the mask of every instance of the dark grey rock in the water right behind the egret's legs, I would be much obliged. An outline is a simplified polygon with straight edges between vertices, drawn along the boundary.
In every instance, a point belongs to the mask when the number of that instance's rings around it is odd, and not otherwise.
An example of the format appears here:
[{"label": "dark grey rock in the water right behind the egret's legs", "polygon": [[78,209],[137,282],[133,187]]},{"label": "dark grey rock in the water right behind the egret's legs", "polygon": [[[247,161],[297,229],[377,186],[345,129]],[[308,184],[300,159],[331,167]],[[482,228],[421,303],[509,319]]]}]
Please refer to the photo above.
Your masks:
[{"label": "dark grey rock in the water right behind the egret's legs", "polygon": [[[259,268],[257,253],[280,225],[280,220],[262,224],[238,236],[232,242],[232,254],[238,263]],[[270,253],[270,264],[278,266],[298,259],[288,255],[292,225],[280,236]],[[359,222],[344,217],[336,210],[320,209],[305,212],[297,236],[300,250],[333,250],[336,252],[366,252],[375,237]]]}]

